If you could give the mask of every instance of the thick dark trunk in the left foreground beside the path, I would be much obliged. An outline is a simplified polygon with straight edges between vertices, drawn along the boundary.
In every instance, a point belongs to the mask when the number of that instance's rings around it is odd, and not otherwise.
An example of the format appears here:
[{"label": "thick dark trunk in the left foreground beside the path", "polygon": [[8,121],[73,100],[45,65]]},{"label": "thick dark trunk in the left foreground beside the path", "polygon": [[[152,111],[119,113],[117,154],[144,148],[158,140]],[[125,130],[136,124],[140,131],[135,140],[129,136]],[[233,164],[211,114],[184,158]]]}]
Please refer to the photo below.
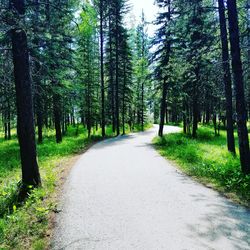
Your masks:
[{"label": "thick dark trunk in the left foreground beside the path", "polygon": [[[11,0],[13,12],[25,14],[24,0]],[[41,184],[35,143],[35,127],[29,54],[26,33],[22,28],[11,30],[14,78],[17,105],[17,130],[24,187]]]}]

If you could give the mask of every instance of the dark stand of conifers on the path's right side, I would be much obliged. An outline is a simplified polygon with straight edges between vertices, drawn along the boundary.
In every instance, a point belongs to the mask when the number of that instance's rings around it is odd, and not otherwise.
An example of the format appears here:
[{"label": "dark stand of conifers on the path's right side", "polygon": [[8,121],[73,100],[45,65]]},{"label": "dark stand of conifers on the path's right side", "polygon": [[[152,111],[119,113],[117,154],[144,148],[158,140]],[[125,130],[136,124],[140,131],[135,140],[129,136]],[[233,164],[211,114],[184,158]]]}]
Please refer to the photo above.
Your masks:
[{"label": "dark stand of conifers on the path's right side", "polygon": [[[182,120],[184,132],[193,137],[197,137],[200,122],[212,121],[216,134],[222,122],[228,150],[235,154],[237,125],[242,171],[249,174],[249,21],[239,20],[238,15],[240,10],[242,16],[249,17],[249,2],[159,0],[157,4],[160,28],[153,59],[162,86],[159,135],[169,112],[178,114],[172,115],[172,121]],[[242,53],[241,48],[248,52]],[[179,92],[173,92],[176,90]],[[175,107],[168,107],[171,99]]]}]

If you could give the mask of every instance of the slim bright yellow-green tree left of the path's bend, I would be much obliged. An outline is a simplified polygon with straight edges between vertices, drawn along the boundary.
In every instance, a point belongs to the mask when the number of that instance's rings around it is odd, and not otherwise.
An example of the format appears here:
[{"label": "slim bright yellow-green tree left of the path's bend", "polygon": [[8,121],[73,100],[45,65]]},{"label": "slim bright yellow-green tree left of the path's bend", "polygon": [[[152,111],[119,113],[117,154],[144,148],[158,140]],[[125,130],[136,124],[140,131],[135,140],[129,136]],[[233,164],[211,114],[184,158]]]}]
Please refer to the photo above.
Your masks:
[{"label": "slim bright yellow-green tree left of the path's bend", "polygon": [[[81,13],[80,33],[77,51],[78,74],[81,85],[81,110],[84,116],[84,123],[87,125],[88,136],[91,135],[92,127],[99,122],[99,100],[98,84],[99,70],[99,43],[97,32],[97,13],[93,6],[85,4]],[[101,104],[102,105],[102,104]],[[102,108],[101,108],[102,109]],[[103,131],[103,130],[102,130]]]}]

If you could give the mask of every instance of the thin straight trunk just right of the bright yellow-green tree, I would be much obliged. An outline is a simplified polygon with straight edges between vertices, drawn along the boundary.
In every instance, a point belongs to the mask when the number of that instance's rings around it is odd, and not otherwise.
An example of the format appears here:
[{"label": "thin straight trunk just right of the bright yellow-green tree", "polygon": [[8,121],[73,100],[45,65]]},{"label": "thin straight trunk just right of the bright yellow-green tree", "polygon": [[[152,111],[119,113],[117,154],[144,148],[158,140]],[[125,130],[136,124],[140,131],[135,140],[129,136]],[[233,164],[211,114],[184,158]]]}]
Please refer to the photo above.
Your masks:
[{"label": "thin straight trunk just right of the bright yellow-green tree", "polygon": [[100,54],[101,54],[101,127],[105,137],[105,86],[104,86],[104,34],[103,34],[103,0],[100,0]]}]

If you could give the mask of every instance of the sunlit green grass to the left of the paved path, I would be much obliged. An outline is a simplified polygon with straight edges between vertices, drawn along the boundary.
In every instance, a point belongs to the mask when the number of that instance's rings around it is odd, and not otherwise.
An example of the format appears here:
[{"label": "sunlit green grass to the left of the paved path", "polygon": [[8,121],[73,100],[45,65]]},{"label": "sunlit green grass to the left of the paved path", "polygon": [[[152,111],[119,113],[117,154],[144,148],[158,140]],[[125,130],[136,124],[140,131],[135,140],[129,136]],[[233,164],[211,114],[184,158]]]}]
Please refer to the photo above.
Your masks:
[{"label": "sunlit green grass to the left of the paved path", "polygon": [[[139,130],[136,126],[135,131]],[[21,166],[15,131],[10,141],[4,140],[0,133],[0,249],[48,248],[50,217],[57,206],[56,186],[65,162],[102,139],[100,129],[93,131],[90,139],[82,126],[79,126],[78,134],[76,131],[70,127],[60,144],[55,142],[54,130],[44,131],[44,142],[37,146],[42,187],[31,191],[22,204],[17,202]],[[128,126],[126,133],[129,133]],[[107,127],[106,134],[107,137],[114,136],[111,127]]]}]

